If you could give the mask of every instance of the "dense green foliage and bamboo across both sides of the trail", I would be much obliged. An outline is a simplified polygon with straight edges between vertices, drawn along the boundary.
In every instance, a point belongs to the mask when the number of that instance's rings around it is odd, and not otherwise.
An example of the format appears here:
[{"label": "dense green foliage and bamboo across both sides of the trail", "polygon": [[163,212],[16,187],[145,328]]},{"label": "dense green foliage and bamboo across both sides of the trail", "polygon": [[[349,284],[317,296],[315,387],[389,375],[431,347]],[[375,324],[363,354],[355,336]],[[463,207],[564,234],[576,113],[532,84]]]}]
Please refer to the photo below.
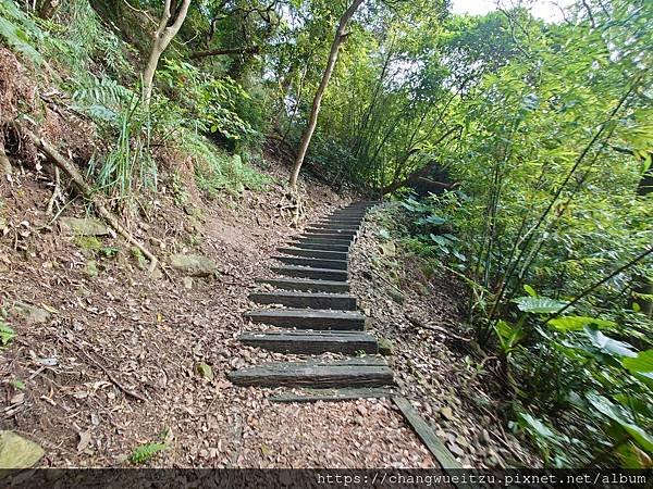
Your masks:
[{"label": "dense green foliage and bamboo across both sides of the trail", "polygon": [[[4,0],[0,40],[110,141],[85,163],[116,202],[157,185],[161,148],[209,195],[263,188],[251,165],[266,143],[293,158],[348,3],[192,2],[145,104],[162,3]],[[405,242],[469,284],[512,426],[551,465],[652,464],[652,23],[645,0],[556,24],[366,1],[308,152],[334,186],[394,192]]]}]

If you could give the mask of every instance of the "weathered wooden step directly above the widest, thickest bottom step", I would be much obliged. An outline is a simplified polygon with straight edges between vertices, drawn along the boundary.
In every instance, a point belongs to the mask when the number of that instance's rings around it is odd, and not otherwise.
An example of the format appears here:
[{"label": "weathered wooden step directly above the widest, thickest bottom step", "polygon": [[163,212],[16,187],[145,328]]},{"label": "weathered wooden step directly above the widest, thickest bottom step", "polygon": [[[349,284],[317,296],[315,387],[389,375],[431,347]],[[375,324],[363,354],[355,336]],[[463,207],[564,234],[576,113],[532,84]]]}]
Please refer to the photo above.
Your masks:
[{"label": "weathered wooden step directly above the widest, thickest bottom step", "polygon": [[358,352],[377,354],[377,338],[368,333],[266,331],[244,333],[238,338],[250,347],[281,353],[321,354],[326,352],[354,355]]}]

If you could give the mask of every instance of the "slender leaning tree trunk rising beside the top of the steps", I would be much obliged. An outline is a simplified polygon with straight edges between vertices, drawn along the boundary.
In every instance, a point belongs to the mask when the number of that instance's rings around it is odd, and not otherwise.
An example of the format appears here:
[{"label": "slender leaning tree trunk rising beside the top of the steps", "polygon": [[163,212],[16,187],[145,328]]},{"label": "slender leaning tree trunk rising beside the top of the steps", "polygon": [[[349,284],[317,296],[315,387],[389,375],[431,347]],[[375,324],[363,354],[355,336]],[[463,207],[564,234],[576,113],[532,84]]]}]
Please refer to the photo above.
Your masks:
[{"label": "slender leaning tree trunk rising beside the top of the steps", "polygon": [[318,86],[318,90],[316,91],[316,96],[313,98],[310,116],[308,118],[308,125],[304,130],[304,135],[301,136],[301,142],[299,143],[299,150],[297,151],[297,159],[295,160],[295,167],[293,168],[293,175],[291,176],[291,187],[293,189],[297,188],[297,177],[299,176],[299,171],[301,170],[301,164],[304,163],[304,158],[306,156],[306,152],[308,151],[308,145],[310,145],[310,139],[316,130],[316,126],[318,125],[318,114],[320,113],[320,105],[322,103],[322,97],[324,96],[324,91],[326,90],[326,86],[329,85],[329,80],[331,79],[331,75],[333,74],[333,68],[335,66],[335,62],[337,61],[337,52],[340,50],[343,40],[346,37],[345,28],[347,24],[354,16],[354,13],[360,7],[360,4],[365,0],[354,0],[354,2],[349,5],[347,11],[343,14],[337,25],[337,30],[335,32],[335,37],[333,38],[333,43],[331,45],[331,52],[329,53],[329,61],[326,62],[326,67],[324,68],[324,73],[322,74],[322,80]]}]

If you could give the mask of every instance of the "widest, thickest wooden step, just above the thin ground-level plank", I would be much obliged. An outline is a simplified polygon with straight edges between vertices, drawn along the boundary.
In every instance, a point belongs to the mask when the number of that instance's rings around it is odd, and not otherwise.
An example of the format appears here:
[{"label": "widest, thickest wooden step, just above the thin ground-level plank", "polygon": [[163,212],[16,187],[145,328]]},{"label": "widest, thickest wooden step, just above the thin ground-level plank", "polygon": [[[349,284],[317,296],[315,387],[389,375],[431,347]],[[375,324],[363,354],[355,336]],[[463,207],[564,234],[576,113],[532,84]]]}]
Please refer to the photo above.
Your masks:
[{"label": "widest, thickest wooden step, just above the thin ground-level plank", "polygon": [[341,362],[271,362],[227,374],[236,386],[383,387],[393,384],[392,369],[375,356]]}]

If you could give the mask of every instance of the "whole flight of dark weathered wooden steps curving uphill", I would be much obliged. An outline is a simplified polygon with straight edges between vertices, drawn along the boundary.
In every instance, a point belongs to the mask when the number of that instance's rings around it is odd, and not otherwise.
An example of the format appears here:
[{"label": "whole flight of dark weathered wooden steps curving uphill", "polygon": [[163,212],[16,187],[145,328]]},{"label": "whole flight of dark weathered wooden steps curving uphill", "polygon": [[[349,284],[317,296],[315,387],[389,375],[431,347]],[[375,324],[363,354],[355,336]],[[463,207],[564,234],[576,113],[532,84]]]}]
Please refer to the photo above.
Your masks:
[{"label": "whole flight of dark weathered wooden steps curving uphill", "polygon": [[[270,362],[231,372],[237,386],[312,388],[301,400],[338,400],[357,397],[389,397],[392,369],[378,356],[377,338],[365,331],[365,315],[349,294],[348,258],[373,205],[361,202],[334,211],[308,226],[287,247],[279,248],[272,268],[282,278],[257,279],[275,288],[256,291],[249,299],[261,306],[245,317],[274,328],[245,331],[243,343],[282,353],[317,355],[326,352],[349,358],[340,361],[308,359],[304,362]],[[331,389],[331,390],[324,390]],[[288,402],[294,394],[279,397]],[[274,399],[273,399],[274,400]]]}]

